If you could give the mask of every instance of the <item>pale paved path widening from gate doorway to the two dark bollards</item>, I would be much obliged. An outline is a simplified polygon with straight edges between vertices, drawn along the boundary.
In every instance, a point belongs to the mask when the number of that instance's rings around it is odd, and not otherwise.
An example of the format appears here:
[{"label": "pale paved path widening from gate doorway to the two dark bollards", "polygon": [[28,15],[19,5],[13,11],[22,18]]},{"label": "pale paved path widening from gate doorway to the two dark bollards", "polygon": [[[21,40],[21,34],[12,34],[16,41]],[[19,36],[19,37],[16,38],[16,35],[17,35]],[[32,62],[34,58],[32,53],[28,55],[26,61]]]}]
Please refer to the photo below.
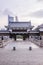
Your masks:
[{"label": "pale paved path widening from gate doorway to the two dark bollards", "polygon": [[9,50],[13,49],[13,47],[16,47],[16,49],[29,49],[30,46],[32,48],[39,48],[34,43],[30,41],[23,41],[23,40],[12,41],[5,48]]}]

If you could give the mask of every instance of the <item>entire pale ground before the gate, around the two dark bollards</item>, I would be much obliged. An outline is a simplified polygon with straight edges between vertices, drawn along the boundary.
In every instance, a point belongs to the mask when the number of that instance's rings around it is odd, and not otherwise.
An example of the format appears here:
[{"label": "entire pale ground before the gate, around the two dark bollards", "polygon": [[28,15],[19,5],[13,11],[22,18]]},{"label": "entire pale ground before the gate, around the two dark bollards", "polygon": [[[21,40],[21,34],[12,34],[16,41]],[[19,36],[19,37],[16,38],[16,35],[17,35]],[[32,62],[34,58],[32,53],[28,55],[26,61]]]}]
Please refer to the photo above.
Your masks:
[{"label": "entire pale ground before the gate, around the two dark bollards", "polygon": [[[31,51],[29,46],[32,47]],[[43,65],[43,48],[30,41],[10,41],[7,46],[0,48],[0,65]]]}]

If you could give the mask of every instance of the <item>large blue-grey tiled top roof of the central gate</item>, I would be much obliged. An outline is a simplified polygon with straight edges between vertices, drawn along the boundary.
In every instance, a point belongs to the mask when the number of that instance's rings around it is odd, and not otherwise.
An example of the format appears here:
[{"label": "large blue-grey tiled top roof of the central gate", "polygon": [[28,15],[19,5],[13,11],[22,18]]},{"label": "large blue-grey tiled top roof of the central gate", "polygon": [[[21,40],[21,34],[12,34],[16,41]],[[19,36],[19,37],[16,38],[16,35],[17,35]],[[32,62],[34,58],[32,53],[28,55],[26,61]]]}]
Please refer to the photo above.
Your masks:
[{"label": "large blue-grey tiled top roof of the central gate", "polygon": [[31,22],[10,22],[10,27],[30,27]]}]

